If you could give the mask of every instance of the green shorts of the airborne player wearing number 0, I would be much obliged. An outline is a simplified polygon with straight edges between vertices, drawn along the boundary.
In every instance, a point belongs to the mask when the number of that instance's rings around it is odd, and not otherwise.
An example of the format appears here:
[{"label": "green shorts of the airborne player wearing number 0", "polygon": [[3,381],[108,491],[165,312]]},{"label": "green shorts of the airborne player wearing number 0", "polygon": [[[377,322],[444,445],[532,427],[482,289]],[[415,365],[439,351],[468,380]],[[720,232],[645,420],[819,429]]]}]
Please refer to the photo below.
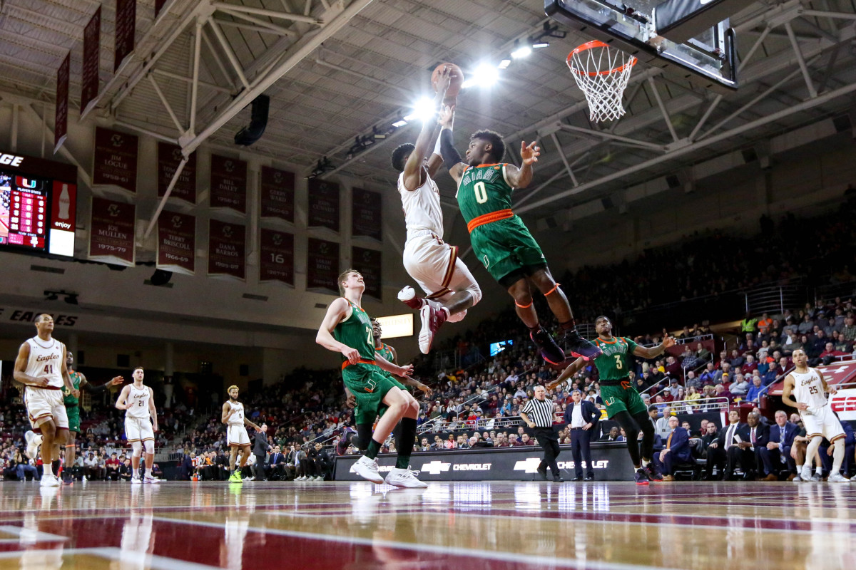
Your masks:
[{"label": "green shorts of the airborne player wearing number 0", "polygon": [[477,226],[470,234],[479,261],[499,281],[508,273],[546,265],[547,260],[523,220],[516,215]]}]

